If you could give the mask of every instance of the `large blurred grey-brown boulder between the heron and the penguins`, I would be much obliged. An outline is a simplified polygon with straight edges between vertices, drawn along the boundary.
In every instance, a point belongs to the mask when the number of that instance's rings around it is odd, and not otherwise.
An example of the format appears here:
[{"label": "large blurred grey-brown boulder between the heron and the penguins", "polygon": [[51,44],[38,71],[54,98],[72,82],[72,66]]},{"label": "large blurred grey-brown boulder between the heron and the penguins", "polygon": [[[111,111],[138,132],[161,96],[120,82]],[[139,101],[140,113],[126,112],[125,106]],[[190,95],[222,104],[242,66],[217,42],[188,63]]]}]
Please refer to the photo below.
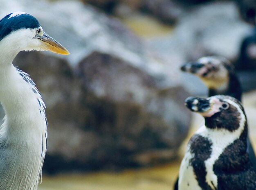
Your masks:
[{"label": "large blurred grey-brown boulder between the heron and the penguins", "polygon": [[14,61],[47,105],[45,171],[144,166],[176,157],[190,119],[177,66],[118,20],[80,2],[1,3],[2,16],[16,10],[34,15],[70,51],[21,52]]}]

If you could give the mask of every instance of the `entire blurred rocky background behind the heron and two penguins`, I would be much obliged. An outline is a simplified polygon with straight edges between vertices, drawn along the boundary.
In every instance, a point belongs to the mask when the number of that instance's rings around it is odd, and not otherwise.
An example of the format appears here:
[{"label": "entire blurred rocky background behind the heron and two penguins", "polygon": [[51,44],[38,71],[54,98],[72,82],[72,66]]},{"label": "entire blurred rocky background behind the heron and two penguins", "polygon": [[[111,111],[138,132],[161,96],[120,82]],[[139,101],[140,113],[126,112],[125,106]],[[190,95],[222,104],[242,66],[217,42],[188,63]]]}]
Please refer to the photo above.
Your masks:
[{"label": "entire blurred rocky background behind the heron and two penguins", "polygon": [[[221,55],[238,69],[256,149],[254,0],[0,0],[34,15],[70,55],[20,52],[47,106],[40,190],[170,190],[207,88],[180,66]],[[0,111],[3,117],[4,113]]]}]

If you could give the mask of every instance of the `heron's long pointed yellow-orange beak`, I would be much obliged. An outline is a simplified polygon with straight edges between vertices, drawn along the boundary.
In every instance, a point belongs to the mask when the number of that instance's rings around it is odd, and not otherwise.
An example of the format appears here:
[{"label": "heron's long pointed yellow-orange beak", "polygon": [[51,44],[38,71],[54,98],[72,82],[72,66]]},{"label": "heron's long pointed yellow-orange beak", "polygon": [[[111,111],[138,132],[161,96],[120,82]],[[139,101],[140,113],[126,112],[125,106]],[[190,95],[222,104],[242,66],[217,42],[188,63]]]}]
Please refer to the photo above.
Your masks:
[{"label": "heron's long pointed yellow-orange beak", "polygon": [[58,41],[50,37],[47,33],[43,32],[42,36],[36,35],[35,38],[38,38],[43,41],[43,48],[50,50],[54,53],[69,55],[70,52],[64,48]]}]

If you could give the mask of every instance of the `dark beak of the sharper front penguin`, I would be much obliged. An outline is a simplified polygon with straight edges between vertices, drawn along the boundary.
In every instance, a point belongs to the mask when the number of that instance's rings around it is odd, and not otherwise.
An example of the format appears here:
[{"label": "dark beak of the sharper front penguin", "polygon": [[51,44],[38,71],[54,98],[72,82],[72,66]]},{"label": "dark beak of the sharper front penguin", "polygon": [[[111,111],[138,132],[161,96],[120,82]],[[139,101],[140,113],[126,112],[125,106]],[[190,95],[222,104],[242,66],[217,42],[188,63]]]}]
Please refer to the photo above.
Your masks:
[{"label": "dark beak of the sharper front penguin", "polygon": [[186,98],[185,105],[191,111],[199,113],[205,113],[211,109],[211,104],[208,98],[197,98],[191,96],[189,98]]}]

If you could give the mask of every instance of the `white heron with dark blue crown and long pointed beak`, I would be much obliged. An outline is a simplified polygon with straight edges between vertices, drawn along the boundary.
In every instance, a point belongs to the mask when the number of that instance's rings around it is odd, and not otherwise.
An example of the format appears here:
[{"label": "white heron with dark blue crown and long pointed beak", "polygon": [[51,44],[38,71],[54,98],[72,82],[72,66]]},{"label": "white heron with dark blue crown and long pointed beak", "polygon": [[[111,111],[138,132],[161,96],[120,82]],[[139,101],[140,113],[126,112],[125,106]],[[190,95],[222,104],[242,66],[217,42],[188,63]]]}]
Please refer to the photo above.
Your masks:
[{"label": "white heron with dark blue crown and long pointed beak", "polygon": [[14,67],[20,51],[69,54],[43,32],[35,17],[15,12],[0,20],[0,189],[36,190],[47,149],[45,104],[36,84]]}]

